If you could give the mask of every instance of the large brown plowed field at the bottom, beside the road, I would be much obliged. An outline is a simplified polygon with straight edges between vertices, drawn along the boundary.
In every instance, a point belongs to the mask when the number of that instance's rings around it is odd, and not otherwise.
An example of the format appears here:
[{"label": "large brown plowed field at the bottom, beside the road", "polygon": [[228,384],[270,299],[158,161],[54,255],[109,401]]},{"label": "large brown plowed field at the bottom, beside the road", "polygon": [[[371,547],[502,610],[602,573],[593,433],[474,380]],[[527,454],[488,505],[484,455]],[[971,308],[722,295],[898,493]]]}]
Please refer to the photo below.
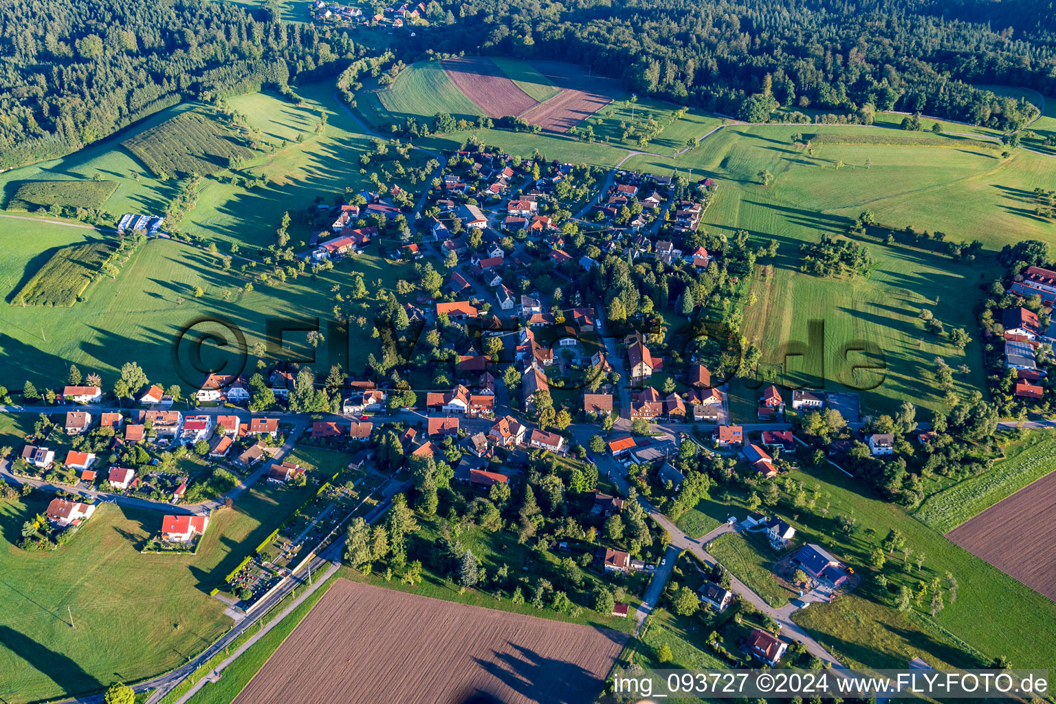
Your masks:
[{"label": "large brown plowed field at the bottom, beside the road", "polygon": [[582,704],[627,638],[339,579],[233,704]]}]

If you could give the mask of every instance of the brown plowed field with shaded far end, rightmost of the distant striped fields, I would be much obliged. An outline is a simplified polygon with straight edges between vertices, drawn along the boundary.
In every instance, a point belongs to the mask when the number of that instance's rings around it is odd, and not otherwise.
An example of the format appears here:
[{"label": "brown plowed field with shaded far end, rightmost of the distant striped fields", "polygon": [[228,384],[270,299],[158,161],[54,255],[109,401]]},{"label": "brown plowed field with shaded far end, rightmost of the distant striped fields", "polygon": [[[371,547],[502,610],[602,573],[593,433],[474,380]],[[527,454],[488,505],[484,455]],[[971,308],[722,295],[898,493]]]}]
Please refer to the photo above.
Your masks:
[{"label": "brown plowed field with shaded far end, rightmost of the distant striped fields", "polygon": [[561,61],[532,61],[531,64],[561,93],[522,115],[549,132],[568,132],[623,94],[618,81],[589,76],[579,66]]}]

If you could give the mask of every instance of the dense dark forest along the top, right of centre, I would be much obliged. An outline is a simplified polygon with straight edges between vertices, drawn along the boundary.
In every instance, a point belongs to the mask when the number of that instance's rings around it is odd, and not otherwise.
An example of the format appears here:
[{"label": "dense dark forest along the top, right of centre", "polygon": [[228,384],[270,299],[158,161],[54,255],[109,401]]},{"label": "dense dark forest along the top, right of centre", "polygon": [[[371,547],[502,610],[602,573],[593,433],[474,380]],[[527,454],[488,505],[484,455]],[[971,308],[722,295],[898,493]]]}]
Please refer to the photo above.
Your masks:
[{"label": "dense dark forest along the top, right of centre", "polygon": [[843,114],[871,103],[1014,129],[1034,112],[972,83],[1056,93],[1052,0],[444,4],[459,19],[422,52],[475,53],[466,37],[478,37],[484,54],[590,64],[640,94],[744,118],[760,103]]}]

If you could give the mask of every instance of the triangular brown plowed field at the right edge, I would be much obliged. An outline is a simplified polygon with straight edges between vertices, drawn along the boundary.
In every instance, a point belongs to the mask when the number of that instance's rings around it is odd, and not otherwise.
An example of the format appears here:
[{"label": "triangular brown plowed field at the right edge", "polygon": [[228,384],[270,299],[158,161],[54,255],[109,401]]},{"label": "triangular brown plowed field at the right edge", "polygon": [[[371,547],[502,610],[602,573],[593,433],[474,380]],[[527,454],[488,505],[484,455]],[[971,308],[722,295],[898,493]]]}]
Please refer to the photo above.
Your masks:
[{"label": "triangular brown plowed field at the right edge", "polygon": [[1056,472],[978,516],[946,537],[1056,601]]}]

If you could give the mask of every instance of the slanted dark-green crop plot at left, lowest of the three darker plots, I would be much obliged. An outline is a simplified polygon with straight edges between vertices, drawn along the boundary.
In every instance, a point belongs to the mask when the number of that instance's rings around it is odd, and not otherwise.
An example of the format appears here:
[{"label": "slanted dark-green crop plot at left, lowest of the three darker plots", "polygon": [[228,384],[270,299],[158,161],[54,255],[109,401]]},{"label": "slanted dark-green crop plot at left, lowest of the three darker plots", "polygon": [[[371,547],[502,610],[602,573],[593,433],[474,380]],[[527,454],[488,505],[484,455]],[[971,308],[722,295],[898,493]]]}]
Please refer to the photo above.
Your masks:
[{"label": "slanted dark-green crop plot at left, lowest of the three darker plots", "polygon": [[70,307],[114,252],[113,240],[62,247],[11,297],[16,306]]}]

